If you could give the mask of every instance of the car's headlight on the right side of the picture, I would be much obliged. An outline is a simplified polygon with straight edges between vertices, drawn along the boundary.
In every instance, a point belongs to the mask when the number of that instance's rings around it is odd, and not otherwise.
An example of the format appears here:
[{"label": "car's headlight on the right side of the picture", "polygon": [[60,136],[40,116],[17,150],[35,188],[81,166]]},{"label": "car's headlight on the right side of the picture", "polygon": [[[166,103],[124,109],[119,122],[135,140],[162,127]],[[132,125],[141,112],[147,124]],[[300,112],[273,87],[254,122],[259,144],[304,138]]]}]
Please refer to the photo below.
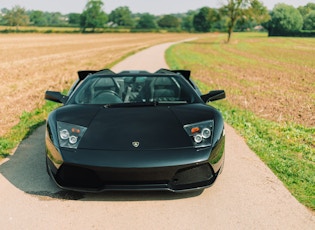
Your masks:
[{"label": "car's headlight on the right side of the picture", "polygon": [[213,120],[202,121],[184,126],[195,146],[205,147],[212,143]]}]

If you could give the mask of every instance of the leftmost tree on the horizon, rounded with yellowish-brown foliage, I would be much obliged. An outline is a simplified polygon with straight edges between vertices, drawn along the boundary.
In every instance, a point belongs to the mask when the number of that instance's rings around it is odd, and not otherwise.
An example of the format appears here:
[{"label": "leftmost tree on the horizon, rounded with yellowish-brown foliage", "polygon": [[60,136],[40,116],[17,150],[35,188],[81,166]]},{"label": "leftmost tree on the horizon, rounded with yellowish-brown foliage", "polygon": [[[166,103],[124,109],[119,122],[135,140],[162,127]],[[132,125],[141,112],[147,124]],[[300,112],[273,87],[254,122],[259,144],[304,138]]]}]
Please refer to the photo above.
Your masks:
[{"label": "leftmost tree on the horizon, rounded with yellowish-brown foliage", "polygon": [[16,30],[19,30],[19,26],[26,26],[29,23],[29,17],[25,9],[20,6],[14,6],[11,10],[8,10],[3,18],[7,25],[15,26]]}]

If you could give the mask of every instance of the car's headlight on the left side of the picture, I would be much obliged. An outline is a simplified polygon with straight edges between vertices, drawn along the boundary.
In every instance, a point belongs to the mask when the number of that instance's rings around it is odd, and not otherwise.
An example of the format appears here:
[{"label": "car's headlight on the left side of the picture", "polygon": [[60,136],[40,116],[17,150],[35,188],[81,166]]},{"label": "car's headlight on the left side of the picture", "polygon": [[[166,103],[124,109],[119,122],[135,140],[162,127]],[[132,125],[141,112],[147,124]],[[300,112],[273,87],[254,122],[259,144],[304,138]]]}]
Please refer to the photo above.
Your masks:
[{"label": "car's headlight on the left side of the picture", "polygon": [[60,147],[76,149],[83,137],[86,127],[57,121]]}]

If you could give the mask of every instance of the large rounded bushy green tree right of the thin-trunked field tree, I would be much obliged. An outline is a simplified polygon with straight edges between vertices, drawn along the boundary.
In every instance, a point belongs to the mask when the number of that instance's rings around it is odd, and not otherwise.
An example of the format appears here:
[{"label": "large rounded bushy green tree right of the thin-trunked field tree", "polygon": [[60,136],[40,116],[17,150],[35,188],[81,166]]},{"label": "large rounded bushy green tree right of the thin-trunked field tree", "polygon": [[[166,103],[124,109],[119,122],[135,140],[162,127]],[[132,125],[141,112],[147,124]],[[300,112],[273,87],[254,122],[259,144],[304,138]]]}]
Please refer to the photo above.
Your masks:
[{"label": "large rounded bushy green tree right of the thin-trunked field tree", "polygon": [[293,6],[280,3],[270,13],[271,20],[266,24],[269,36],[289,35],[303,27],[301,13]]}]

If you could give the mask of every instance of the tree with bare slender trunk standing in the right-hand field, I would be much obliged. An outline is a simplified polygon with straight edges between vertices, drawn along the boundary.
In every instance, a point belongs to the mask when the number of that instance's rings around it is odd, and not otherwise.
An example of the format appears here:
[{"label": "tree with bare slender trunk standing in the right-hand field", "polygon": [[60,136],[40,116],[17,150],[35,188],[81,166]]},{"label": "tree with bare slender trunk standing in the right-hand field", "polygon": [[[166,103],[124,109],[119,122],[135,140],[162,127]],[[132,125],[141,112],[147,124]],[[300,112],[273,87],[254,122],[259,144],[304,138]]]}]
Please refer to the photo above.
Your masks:
[{"label": "tree with bare slender trunk standing in the right-hand field", "polygon": [[263,23],[268,20],[268,10],[259,0],[228,0],[227,4],[220,9],[227,17],[227,32],[230,42],[234,27],[240,19],[251,19]]}]

